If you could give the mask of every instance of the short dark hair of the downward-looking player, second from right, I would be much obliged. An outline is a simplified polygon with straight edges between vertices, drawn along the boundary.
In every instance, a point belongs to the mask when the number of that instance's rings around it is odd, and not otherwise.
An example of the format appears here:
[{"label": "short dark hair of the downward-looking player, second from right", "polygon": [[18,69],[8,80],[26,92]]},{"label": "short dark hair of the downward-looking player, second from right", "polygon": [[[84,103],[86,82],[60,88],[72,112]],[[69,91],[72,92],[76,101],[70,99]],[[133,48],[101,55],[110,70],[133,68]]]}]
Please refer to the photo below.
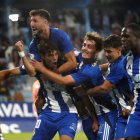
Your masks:
[{"label": "short dark hair of the downward-looking player, second from right", "polygon": [[120,48],[121,47],[121,37],[119,35],[113,34],[107,37],[103,42],[104,48]]}]

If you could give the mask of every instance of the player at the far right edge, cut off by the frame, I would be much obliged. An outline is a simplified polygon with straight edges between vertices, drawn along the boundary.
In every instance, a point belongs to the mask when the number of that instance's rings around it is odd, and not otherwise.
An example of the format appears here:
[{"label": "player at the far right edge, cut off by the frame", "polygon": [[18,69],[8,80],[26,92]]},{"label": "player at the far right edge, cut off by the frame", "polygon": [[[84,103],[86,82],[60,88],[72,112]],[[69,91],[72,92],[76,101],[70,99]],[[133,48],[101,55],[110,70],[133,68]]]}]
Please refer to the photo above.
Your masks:
[{"label": "player at the far right edge, cut off by the frame", "polygon": [[134,106],[126,126],[126,140],[140,139],[140,26],[130,23],[122,29],[122,46],[130,49],[126,56],[126,69],[131,77],[134,92]]}]

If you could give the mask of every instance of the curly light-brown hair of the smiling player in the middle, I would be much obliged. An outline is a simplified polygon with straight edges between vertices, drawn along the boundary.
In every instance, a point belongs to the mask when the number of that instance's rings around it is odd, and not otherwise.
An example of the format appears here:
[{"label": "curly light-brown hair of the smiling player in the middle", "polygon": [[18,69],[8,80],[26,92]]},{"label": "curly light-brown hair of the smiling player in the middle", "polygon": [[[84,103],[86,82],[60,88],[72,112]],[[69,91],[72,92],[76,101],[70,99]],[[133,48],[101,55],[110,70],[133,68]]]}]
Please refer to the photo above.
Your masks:
[{"label": "curly light-brown hair of the smiling player in the middle", "polygon": [[84,40],[94,40],[96,42],[96,49],[98,51],[102,50],[103,38],[97,32],[87,32]]}]

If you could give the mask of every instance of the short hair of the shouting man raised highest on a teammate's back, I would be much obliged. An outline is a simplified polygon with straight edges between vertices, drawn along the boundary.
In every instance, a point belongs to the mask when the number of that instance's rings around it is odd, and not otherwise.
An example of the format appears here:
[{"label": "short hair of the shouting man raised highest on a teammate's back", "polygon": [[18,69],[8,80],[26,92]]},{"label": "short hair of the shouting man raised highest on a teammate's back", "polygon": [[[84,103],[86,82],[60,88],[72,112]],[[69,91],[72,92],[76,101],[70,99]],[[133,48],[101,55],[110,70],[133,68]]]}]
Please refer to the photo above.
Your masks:
[{"label": "short hair of the shouting man raised highest on a teammate's back", "polygon": [[31,10],[29,12],[29,15],[30,16],[39,15],[40,17],[46,19],[48,22],[50,22],[51,19],[50,13],[45,9]]}]

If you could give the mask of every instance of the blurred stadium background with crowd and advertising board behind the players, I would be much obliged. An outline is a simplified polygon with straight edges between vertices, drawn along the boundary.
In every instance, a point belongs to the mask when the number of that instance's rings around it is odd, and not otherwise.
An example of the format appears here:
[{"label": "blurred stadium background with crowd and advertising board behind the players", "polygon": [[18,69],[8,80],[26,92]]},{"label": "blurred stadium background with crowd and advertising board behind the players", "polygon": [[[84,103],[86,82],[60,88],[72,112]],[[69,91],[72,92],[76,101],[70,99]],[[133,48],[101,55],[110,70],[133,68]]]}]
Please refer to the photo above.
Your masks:
[{"label": "blurred stadium background with crowd and advertising board behind the players", "polygon": [[[50,11],[52,26],[65,30],[79,50],[87,31],[94,30],[106,37],[111,33],[120,35],[122,27],[130,22],[140,24],[139,0],[1,0],[0,70],[20,65],[13,45],[22,39],[28,51],[31,40],[28,13],[38,8]],[[17,19],[12,17],[14,14]],[[0,124],[6,140],[31,138],[35,123],[31,93],[34,81],[21,76],[0,82]],[[79,120],[80,133],[76,139],[86,140],[81,131]]]}]

